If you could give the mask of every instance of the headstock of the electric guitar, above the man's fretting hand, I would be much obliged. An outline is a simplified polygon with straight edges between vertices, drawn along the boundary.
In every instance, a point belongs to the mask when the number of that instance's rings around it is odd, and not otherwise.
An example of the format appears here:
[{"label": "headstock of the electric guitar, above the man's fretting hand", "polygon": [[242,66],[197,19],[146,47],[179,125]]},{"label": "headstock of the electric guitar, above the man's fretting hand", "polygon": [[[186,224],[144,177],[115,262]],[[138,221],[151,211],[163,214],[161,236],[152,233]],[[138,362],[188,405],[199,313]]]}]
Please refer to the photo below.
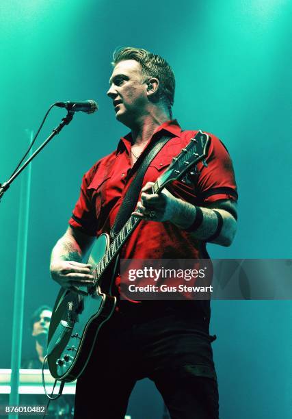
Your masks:
[{"label": "headstock of the electric guitar, above the man's fretting hand", "polygon": [[202,131],[198,131],[194,138],[191,138],[187,147],[181,150],[181,153],[173,157],[172,163],[168,169],[157,179],[157,187],[164,188],[168,183],[181,179],[187,171],[202,162],[207,166],[205,157],[208,153],[210,137]]}]

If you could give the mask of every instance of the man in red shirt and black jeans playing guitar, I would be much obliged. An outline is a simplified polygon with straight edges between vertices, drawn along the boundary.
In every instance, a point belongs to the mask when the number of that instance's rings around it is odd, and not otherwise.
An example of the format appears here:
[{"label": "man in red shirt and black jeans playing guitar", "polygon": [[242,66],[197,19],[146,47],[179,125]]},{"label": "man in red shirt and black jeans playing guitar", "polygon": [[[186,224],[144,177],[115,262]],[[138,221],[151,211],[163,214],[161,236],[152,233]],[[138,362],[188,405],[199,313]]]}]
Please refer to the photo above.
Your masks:
[{"label": "man in red shirt and black jeans playing guitar", "polygon": [[[198,164],[197,175],[174,181],[160,194],[150,191],[196,131],[181,131],[172,120],[174,74],[163,58],[127,47],[115,51],[112,64],[107,95],[116,119],[131,132],[85,173],[69,227],[51,257],[53,279],[80,294],[79,287],[94,281],[91,264],[83,263],[88,249],[96,236],[109,233],[140,157],[162,135],[170,140],[146,170],[135,210],[141,221],[120,257],[208,258],[206,243],[229,246],[237,225],[232,162],[212,134],[207,167]],[[194,81],[189,87],[196,100]],[[124,418],[131,390],[144,377],[155,382],[172,418],[218,418],[209,301],[121,301],[119,285],[117,277],[114,314],[101,327],[77,380],[75,418]]]}]

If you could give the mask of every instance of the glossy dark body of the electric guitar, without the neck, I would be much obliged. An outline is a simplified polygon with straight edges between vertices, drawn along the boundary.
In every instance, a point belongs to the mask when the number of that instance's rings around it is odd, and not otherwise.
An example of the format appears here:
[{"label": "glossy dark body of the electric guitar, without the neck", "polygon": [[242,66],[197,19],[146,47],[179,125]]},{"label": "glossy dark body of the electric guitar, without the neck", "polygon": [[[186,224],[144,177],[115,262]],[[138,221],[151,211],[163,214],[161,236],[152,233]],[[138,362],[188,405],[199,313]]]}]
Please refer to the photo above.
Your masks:
[{"label": "glossy dark body of the electric guitar, without the neck", "polygon": [[[98,264],[108,248],[109,236],[102,234],[92,248],[90,263]],[[49,370],[55,379],[74,381],[87,365],[98,331],[116,305],[116,297],[111,296],[115,275],[111,276],[110,281],[105,275],[98,279],[88,296],[64,288],[59,291],[53,307],[47,351]],[[87,288],[81,290],[87,292]]]}]

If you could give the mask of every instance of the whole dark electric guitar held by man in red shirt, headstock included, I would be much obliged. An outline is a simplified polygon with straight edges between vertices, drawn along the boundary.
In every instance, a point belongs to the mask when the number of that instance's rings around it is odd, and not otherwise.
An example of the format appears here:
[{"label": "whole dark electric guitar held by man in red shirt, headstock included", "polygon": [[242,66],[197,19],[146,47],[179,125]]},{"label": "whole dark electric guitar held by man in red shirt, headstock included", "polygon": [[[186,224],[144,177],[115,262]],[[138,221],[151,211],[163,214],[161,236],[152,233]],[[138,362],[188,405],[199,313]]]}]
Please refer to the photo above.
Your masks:
[{"label": "whole dark electric guitar held by man in red shirt, headstock included", "polygon": [[[207,155],[210,138],[198,131],[185,149],[181,150],[168,169],[159,176],[152,186],[152,193],[161,192],[168,183],[182,179],[191,168],[198,172],[196,165]],[[90,253],[90,263],[94,265],[94,283],[83,296],[61,288],[53,308],[49,328],[47,359],[51,375],[60,381],[73,381],[79,377],[88,363],[98,331],[114,312],[116,297],[111,294],[111,285],[118,264],[118,253],[140,223],[140,218],[131,215],[124,227],[110,242],[107,233],[101,234]]]}]

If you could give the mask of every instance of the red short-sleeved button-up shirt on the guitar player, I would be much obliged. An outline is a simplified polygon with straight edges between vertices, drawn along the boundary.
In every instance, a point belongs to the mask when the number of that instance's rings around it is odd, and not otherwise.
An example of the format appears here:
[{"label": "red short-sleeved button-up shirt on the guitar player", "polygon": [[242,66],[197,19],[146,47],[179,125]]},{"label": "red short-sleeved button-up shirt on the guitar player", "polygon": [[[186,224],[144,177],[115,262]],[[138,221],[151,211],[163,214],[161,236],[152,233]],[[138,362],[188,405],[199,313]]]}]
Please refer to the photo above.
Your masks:
[{"label": "red short-sleeved button-up shirt on the guitar player", "polygon": [[[155,130],[151,141],[161,133],[172,138],[152,160],[146,170],[143,186],[157,177],[170,165],[198,131],[181,131],[176,120],[163,123]],[[174,181],[170,192],[189,203],[207,206],[220,199],[237,199],[235,175],[230,156],[222,142],[209,134],[211,145],[207,167],[198,164],[200,175],[193,181]],[[146,147],[148,147],[148,145]],[[83,176],[81,194],[69,224],[90,236],[109,233],[118,210],[136,173],[131,168],[131,133],[121,138],[113,153],[98,160]],[[208,257],[205,243],[191,237],[170,222],[159,223],[142,220],[125,242],[120,253],[124,259],[196,259]]]}]

